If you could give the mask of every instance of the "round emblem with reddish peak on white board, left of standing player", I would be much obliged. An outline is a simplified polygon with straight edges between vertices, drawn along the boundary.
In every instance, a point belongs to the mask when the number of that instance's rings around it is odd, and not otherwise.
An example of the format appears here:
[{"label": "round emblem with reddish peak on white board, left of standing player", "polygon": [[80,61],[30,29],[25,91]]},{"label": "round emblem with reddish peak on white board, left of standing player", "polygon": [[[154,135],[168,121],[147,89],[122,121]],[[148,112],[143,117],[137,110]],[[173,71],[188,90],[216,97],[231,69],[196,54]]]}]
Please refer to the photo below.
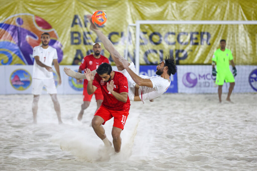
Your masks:
[{"label": "round emblem with reddish peak on white board, left of standing player", "polygon": [[10,83],[16,90],[26,90],[31,84],[31,75],[25,69],[16,69],[10,76]]}]

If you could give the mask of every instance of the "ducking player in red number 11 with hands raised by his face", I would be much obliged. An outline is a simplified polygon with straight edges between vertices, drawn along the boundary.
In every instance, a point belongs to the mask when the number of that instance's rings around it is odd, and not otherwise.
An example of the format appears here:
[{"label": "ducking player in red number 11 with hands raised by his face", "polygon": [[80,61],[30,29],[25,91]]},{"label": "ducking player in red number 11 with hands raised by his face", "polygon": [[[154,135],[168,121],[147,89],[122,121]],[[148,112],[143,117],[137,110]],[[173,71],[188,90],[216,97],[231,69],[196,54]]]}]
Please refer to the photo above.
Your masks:
[{"label": "ducking player in red number 11 with hands raised by his face", "polygon": [[88,94],[93,94],[99,88],[104,96],[101,106],[92,119],[92,127],[105,146],[111,146],[112,143],[106,137],[102,125],[114,117],[112,137],[115,152],[118,153],[121,150],[121,131],[130,109],[127,78],[120,72],[112,71],[112,66],[107,63],[99,65],[96,72],[94,76],[90,69],[85,70]]}]

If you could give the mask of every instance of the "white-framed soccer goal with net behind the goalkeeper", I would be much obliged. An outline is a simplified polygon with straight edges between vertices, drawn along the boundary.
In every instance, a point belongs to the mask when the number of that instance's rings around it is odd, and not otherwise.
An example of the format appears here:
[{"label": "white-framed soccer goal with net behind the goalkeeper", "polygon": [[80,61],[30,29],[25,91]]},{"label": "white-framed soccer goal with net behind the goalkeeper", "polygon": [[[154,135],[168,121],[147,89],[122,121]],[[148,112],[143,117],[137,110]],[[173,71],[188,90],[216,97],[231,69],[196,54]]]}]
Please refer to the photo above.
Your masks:
[{"label": "white-framed soccer goal with net behind the goalkeeper", "polygon": [[[211,62],[220,40],[225,39],[238,73],[234,92],[256,92],[256,24],[257,21],[136,21],[127,27],[125,58],[134,60],[140,73],[140,65],[157,65],[166,55],[174,56],[181,90],[178,92],[216,93],[216,88],[210,90],[215,87]],[[224,92],[228,86],[223,86]]]}]

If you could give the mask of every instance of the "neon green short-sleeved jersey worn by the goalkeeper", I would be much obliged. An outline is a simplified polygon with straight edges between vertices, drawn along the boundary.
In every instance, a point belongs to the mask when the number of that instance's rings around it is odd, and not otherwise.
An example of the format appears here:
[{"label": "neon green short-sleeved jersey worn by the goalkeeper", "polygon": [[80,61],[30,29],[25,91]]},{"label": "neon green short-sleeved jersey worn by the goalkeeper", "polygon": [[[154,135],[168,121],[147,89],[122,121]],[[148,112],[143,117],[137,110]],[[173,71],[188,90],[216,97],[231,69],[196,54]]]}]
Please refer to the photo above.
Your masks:
[{"label": "neon green short-sleeved jersey worn by the goalkeeper", "polygon": [[216,70],[217,72],[226,72],[230,71],[229,68],[229,61],[233,59],[231,50],[225,48],[225,51],[222,51],[221,49],[217,49],[214,52],[214,55],[212,57],[212,61],[216,62]]}]

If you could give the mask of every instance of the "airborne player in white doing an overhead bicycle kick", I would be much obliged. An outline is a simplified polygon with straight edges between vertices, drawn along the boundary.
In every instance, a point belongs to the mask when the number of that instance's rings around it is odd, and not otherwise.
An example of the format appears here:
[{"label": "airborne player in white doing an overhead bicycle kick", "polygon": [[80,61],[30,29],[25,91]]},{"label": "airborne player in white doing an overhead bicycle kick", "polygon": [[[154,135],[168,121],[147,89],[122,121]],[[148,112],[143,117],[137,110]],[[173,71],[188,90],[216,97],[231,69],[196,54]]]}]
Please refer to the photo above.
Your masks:
[{"label": "airborne player in white doing an overhead bicycle kick", "polygon": [[[91,16],[87,15],[87,17],[91,21],[90,29],[97,34],[105,49],[111,54],[118,70],[127,77],[129,86],[128,97],[131,101],[142,101],[145,103],[145,100],[150,100],[152,102],[154,98],[166,92],[170,86],[170,75],[174,75],[177,72],[175,59],[172,56],[166,56],[166,59],[161,61],[156,67],[156,74],[160,75],[160,77],[138,76],[133,62],[129,63],[124,59],[114,48],[112,42],[93,24]],[[71,69],[65,68],[64,71],[69,76],[85,79],[85,76],[73,72]]]}]

